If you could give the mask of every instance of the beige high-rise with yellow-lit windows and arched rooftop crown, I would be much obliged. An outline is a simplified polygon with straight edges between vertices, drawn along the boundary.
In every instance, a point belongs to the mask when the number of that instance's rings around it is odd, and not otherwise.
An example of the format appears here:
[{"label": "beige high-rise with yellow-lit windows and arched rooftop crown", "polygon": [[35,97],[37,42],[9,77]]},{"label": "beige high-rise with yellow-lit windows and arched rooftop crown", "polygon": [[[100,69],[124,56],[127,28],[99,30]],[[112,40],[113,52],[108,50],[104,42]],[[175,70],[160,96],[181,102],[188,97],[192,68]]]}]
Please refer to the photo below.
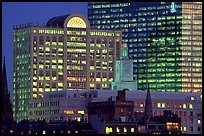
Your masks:
[{"label": "beige high-rise with yellow-lit windows and arched rooftop crown", "polygon": [[27,119],[30,99],[57,90],[111,89],[121,31],[91,29],[83,15],[13,30],[13,111]]}]

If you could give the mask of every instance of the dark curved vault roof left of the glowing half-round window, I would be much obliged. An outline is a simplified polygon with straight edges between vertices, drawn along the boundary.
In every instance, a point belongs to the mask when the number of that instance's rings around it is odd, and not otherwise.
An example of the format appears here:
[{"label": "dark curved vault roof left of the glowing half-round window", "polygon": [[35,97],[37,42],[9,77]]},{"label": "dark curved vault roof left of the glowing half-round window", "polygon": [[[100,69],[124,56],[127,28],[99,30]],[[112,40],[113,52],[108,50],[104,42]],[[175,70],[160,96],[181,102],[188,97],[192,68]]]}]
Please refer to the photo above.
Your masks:
[{"label": "dark curved vault roof left of the glowing half-round window", "polygon": [[51,18],[46,26],[58,26],[58,27],[63,27],[64,26],[64,21],[66,20],[66,18],[69,16],[70,14],[68,15],[63,15],[63,16],[56,16],[56,17],[53,17]]}]

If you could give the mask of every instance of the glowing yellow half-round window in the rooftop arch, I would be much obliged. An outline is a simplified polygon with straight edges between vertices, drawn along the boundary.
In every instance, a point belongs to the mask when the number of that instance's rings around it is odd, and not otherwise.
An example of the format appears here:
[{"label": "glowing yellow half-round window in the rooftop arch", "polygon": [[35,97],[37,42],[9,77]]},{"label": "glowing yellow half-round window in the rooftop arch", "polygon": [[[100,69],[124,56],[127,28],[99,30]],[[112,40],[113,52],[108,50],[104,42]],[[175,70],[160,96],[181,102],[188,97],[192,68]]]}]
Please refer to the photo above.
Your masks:
[{"label": "glowing yellow half-round window in the rooftop arch", "polygon": [[86,23],[80,17],[73,17],[68,21],[67,27],[86,28]]}]

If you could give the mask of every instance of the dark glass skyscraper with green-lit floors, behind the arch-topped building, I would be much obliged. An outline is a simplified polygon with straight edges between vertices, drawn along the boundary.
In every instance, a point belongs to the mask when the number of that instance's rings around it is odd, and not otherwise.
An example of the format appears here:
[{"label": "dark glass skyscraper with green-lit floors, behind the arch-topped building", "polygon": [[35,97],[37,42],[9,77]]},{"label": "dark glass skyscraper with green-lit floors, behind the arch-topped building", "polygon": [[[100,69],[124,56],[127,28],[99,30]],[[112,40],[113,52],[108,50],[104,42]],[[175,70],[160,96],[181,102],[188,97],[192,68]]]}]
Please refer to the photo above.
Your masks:
[{"label": "dark glass skyscraper with green-lit floors, behind the arch-topped building", "polygon": [[202,92],[202,2],[89,2],[88,18],[122,30],[139,90]]}]

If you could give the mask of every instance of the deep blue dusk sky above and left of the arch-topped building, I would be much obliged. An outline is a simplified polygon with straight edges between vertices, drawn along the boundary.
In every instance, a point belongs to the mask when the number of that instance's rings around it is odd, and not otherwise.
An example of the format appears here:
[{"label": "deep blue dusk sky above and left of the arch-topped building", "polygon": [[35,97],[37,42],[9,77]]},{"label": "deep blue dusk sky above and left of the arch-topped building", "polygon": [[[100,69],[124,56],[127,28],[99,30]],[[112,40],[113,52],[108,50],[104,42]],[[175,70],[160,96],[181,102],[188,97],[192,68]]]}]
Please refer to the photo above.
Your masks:
[{"label": "deep blue dusk sky above and left of the arch-topped building", "polygon": [[6,57],[7,80],[12,95],[12,61],[14,25],[28,22],[43,25],[54,16],[80,13],[87,17],[87,2],[4,2],[2,3],[2,68]]}]

